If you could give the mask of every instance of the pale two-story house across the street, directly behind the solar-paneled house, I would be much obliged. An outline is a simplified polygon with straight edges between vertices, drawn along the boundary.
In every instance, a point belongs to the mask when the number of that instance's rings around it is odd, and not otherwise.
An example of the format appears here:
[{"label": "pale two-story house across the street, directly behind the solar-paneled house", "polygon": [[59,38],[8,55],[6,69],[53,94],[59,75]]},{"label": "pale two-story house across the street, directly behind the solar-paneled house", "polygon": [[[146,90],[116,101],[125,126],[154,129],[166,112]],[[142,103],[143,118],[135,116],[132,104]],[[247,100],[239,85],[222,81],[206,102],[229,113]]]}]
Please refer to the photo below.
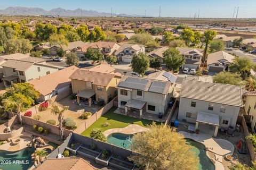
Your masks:
[{"label": "pale two-story house across the street, directly behind the solar-paneled house", "polygon": [[114,53],[117,60],[131,63],[134,54],[145,53],[145,46],[138,44],[122,44]]}]

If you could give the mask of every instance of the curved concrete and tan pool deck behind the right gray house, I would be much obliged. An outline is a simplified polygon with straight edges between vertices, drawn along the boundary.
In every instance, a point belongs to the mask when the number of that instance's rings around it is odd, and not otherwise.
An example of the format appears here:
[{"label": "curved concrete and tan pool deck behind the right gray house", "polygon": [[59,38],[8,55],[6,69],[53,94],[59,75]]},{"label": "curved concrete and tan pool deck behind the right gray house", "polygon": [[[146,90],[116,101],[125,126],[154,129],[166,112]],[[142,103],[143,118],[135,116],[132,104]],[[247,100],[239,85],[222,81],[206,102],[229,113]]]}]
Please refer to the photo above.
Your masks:
[{"label": "curved concrete and tan pool deck behind the right gray house", "polygon": [[[226,155],[233,155],[235,150],[235,147],[231,142],[225,139],[212,138],[212,136],[209,134],[196,134],[183,131],[178,133],[183,134],[185,138],[193,139],[197,142],[202,143],[205,146],[205,148],[209,148],[209,150],[206,151],[206,155],[212,160],[216,170],[224,170],[224,166],[222,165],[223,157],[225,157]],[[215,159],[212,159],[209,156],[208,152],[212,152],[214,154]]]}]

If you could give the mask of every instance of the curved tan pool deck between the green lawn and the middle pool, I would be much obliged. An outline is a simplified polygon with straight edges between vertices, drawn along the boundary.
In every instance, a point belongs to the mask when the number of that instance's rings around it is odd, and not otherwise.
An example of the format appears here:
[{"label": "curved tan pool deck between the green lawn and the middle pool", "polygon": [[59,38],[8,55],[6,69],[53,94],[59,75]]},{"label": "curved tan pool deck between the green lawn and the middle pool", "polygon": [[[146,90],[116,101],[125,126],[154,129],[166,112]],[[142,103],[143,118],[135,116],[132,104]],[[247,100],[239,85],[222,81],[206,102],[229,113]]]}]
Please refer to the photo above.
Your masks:
[{"label": "curved tan pool deck between the green lawn and the middle pool", "polygon": [[135,134],[138,132],[145,132],[145,131],[149,131],[149,129],[144,128],[137,124],[130,124],[125,128],[108,129],[105,132],[103,132],[103,134],[107,137],[109,134],[112,134],[112,133]]}]

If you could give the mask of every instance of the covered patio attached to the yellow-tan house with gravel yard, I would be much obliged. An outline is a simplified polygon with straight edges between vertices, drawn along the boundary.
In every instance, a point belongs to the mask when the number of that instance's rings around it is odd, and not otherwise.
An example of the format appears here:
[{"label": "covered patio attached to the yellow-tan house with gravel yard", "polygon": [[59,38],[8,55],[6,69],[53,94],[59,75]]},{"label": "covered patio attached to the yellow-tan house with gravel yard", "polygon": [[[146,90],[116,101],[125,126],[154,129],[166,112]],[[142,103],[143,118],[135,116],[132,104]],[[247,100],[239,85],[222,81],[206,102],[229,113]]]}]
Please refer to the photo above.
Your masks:
[{"label": "covered patio attached to the yellow-tan house with gravel yard", "polygon": [[82,102],[84,102],[85,105],[89,105],[89,107],[92,106],[93,100],[95,100],[95,92],[91,90],[83,90],[79,92],[76,96],[77,96],[78,104],[81,103],[81,98],[82,98]]}]

